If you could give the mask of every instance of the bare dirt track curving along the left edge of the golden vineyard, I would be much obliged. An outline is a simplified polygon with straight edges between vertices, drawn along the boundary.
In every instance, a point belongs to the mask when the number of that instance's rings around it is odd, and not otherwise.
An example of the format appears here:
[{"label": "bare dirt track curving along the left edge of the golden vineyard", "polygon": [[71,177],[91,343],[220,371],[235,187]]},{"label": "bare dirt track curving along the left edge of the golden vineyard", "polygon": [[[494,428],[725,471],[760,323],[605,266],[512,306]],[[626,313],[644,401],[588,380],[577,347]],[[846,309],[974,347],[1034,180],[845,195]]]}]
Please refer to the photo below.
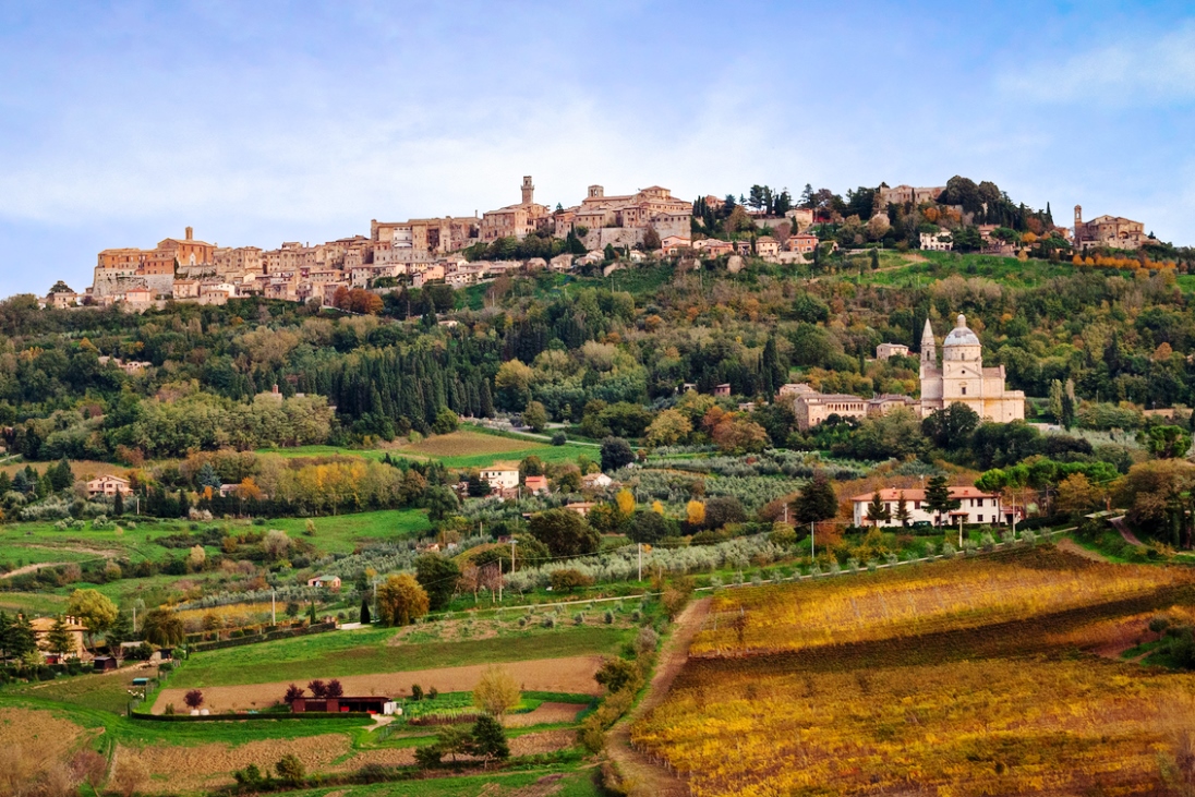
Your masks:
[{"label": "bare dirt track curving along the left edge of the golden vineyard", "polygon": [[693,601],[676,618],[676,627],[660,652],[660,663],[656,666],[651,683],[648,685],[646,695],[626,717],[611,728],[606,737],[606,753],[618,765],[623,778],[629,784],[633,783],[631,793],[661,795],[663,797],[687,797],[690,795],[688,784],[685,780],[670,774],[651,756],[631,747],[631,725],[668,697],[668,689],[672,688],[673,681],[676,680],[688,660],[688,646],[693,642],[694,634],[701,629],[705,615],[710,612],[710,600],[703,597]]}]

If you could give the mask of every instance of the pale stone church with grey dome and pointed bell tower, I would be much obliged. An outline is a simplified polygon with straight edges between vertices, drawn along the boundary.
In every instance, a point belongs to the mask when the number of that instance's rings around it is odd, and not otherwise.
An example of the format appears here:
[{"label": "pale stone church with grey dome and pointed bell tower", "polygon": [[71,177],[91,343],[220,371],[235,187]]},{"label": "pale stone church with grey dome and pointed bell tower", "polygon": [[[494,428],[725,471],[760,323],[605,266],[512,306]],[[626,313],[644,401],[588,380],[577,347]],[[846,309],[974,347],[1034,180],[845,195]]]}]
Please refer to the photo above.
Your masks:
[{"label": "pale stone church with grey dome and pointed bell tower", "polygon": [[1025,417],[1025,394],[1004,387],[1004,366],[983,367],[979,336],[958,315],[942,343],[942,366],[930,319],[921,333],[921,415],[951,404],[966,404],[985,421],[1007,423]]}]

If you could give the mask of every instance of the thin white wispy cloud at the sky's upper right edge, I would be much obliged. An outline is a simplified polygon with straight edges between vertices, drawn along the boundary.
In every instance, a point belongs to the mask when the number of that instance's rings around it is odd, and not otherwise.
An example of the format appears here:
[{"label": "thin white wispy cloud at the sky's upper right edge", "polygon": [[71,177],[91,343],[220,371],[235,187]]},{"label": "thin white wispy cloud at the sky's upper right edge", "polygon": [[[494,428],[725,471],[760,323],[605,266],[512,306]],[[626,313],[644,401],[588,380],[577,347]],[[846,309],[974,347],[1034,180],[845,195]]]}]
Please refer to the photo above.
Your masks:
[{"label": "thin white wispy cloud at the sky's upper right edge", "polygon": [[998,88],[1016,99],[1092,109],[1195,102],[1195,26],[1113,44],[1001,74]]}]

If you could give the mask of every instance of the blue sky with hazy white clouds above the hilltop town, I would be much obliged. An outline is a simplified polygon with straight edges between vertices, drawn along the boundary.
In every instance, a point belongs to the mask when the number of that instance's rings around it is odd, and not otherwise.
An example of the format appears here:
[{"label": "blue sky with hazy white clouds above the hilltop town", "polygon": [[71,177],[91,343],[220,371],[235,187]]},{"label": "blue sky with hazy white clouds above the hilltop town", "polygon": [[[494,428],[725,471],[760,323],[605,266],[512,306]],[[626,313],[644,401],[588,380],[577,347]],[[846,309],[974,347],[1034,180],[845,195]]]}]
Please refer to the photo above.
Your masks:
[{"label": "blue sky with hazy white clouds above the hilltop town", "polygon": [[0,295],[180,235],[991,179],[1195,244],[1195,4],[0,0]]}]

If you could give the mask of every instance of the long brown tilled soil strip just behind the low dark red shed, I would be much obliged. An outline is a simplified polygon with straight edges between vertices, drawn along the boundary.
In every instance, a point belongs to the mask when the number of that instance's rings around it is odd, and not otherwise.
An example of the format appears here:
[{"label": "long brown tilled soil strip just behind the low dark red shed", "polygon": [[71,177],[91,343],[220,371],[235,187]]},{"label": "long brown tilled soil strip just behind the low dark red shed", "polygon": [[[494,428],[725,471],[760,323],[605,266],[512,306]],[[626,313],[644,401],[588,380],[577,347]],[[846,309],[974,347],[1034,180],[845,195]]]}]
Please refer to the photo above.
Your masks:
[{"label": "long brown tilled soil strip just behind the low dark red shed", "polygon": [[[525,692],[570,692],[574,694],[600,694],[601,687],[594,681],[594,673],[601,667],[601,656],[572,656],[571,658],[539,658],[527,662],[498,664],[507,669]],[[347,675],[341,679],[345,694],[410,695],[411,685],[418,683],[424,691],[436,687],[440,692],[468,692],[490,664],[446,667],[443,669],[412,670],[405,673],[381,673],[376,675]],[[312,673],[312,678],[320,678]],[[276,683],[250,683],[243,686],[213,686],[203,689],[203,705],[213,713],[223,711],[250,711],[266,709],[282,700],[286,681]],[[300,683],[299,686],[306,686]],[[167,704],[183,710],[183,695],[188,689],[163,689],[154,701],[153,713],[161,713]]]}]

